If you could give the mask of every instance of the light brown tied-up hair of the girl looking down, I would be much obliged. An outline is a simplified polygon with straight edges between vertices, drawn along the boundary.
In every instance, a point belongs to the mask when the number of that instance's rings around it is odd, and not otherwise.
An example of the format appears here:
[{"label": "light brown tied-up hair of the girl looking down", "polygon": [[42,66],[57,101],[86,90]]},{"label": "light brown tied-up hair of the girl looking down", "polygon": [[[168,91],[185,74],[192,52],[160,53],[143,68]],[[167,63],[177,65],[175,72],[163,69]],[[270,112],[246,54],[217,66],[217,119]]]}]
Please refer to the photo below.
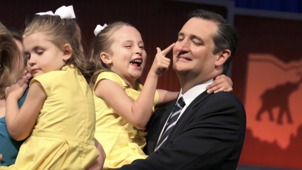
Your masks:
[{"label": "light brown tied-up hair of the girl looking down", "polygon": [[72,57],[65,62],[65,65],[74,65],[78,72],[89,82],[94,73],[94,63],[84,56],[81,30],[76,19],[36,15],[31,22],[26,21],[25,24],[23,38],[30,34],[43,32],[58,49],[62,49],[65,44],[70,44],[73,50]]}]

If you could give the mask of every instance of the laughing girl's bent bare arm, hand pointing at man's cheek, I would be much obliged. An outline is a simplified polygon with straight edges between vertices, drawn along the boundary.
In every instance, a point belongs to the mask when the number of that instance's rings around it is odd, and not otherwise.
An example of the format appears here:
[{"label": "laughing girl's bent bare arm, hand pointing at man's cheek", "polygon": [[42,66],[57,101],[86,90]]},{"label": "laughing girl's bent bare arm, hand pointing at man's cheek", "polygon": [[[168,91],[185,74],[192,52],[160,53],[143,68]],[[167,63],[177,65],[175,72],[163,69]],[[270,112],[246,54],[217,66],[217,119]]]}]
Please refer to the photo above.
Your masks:
[{"label": "laughing girl's bent bare arm, hand pointing at man's cheek", "polygon": [[132,101],[120,85],[108,79],[103,79],[96,85],[96,96],[104,99],[116,113],[133,126],[144,128],[152,113],[158,77],[164,70],[168,70],[170,65],[170,59],[166,58],[165,55],[173,46],[174,43],[163,51],[157,48],[157,54],[144,88],[135,101]]}]

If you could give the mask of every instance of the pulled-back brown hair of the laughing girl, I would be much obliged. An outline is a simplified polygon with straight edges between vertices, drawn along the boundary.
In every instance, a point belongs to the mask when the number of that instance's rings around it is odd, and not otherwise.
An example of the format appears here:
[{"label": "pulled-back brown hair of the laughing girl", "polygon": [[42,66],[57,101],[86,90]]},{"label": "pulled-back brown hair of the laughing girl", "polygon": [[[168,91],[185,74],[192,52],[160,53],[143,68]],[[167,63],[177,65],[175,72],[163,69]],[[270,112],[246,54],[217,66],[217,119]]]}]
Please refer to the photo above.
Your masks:
[{"label": "pulled-back brown hair of the laughing girl", "polygon": [[110,47],[113,43],[113,34],[116,30],[124,26],[133,27],[130,23],[127,22],[123,22],[123,21],[113,22],[108,24],[108,26],[105,27],[101,32],[99,32],[96,35],[96,37],[93,39],[91,45],[91,52],[90,52],[90,58],[91,60],[94,61],[94,65],[95,65],[95,72],[91,78],[92,85],[95,84],[97,76],[101,72],[111,71],[110,67],[101,60],[100,54],[102,52],[112,53]]}]

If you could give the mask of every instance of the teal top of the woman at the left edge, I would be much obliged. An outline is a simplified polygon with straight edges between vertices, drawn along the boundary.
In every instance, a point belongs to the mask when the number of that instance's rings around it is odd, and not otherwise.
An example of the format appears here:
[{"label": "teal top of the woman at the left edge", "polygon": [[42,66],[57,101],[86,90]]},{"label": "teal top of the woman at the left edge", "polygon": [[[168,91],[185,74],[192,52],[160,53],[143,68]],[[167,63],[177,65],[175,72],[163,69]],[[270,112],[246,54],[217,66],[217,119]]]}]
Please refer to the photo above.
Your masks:
[{"label": "teal top of the woman at the left edge", "polygon": [[[22,98],[18,102],[19,108],[22,106],[25,97],[27,95],[28,88],[23,94]],[[0,118],[0,153],[3,155],[1,159],[1,166],[10,166],[15,164],[19,148],[22,145],[22,141],[16,141],[13,139],[7,132],[7,128],[5,125],[5,117]]]}]

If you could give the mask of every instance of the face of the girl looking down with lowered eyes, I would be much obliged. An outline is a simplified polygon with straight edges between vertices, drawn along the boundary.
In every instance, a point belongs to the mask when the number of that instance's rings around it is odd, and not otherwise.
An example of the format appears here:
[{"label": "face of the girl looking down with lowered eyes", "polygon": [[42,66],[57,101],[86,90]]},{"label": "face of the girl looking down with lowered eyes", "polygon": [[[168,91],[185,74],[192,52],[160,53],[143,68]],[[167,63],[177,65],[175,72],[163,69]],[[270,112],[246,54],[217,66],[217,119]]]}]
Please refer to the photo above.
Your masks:
[{"label": "face of the girl looking down with lowered eyes", "polygon": [[24,54],[34,77],[61,70],[65,64],[63,50],[58,49],[48,37],[45,33],[38,32],[23,38]]}]

